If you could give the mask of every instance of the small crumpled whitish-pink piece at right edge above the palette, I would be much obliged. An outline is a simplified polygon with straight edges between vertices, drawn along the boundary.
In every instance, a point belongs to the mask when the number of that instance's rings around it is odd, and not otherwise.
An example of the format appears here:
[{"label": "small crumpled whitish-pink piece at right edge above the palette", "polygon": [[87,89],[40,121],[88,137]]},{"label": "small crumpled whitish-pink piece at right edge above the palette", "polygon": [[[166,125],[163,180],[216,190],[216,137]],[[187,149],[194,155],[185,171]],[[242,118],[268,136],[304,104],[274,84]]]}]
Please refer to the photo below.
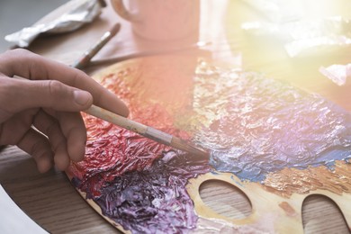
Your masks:
[{"label": "small crumpled whitish-pink piece at right edge above the palette", "polygon": [[351,76],[351,64],[334,64],[329,67],[320,67],[320,73],[339,86],[345,85],[347,77]]}]

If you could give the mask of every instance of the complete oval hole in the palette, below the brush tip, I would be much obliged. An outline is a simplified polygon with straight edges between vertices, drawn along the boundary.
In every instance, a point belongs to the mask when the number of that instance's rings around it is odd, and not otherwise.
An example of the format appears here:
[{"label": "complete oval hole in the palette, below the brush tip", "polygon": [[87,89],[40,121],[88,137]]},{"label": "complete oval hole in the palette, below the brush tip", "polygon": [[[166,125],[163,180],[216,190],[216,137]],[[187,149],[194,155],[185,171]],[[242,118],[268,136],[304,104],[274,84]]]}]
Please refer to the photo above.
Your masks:
[{"label": "complete oval hole in the palette, below the brush tip", "polygon": [[230,219],[241,220],[252,212],[251,202],[247,195],[233,184],[220,180],[204,181],[199,193],[211,210]]}]

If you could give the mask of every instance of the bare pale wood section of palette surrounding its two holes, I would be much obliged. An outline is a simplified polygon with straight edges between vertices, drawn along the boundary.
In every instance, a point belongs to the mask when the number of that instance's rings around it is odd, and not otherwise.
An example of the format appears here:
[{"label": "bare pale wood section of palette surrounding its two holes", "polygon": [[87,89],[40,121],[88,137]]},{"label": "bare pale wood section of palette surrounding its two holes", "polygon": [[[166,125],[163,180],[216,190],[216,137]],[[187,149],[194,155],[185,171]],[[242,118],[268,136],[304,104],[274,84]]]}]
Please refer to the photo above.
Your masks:
[{"label": "bare pale wood section of palette surrounding its two holes", "polygon": [[[211,182],[211,187],[202,187],[208,182]],[[230,186],[235,187],[231,188],[235,193],[229,193]],[[187,189],[196,213],[207,219],[264,229],[265,217],[268,216],[268,220],[275,223],[274,233],[349,232],[347,222],[350,223],[351,211],[344,204],[351,201],[351,194],[316,190],[311,194],[293,194],[290,198],[283,198],[267,193],[260,184],[242,182],[227,173],[200,175],[189,182]]]}]

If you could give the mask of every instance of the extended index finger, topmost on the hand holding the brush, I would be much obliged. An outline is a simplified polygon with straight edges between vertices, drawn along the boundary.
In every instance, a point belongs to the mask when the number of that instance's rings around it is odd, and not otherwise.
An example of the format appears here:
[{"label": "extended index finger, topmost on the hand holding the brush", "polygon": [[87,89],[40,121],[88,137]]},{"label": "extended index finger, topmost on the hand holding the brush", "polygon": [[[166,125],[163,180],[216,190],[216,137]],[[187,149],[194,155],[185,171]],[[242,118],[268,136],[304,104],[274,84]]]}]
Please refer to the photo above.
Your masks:
[{"label": "extended index finger, topmost on the hand holding the brush", "polygon": [[115,94],[74,67],[42,58],[26,49],[14,49],[0,56],[0,72],[6,76],[21,76],[31,80],[58,80],[66,85],[88,91],[94,104],[128,116],[127,106]]}]

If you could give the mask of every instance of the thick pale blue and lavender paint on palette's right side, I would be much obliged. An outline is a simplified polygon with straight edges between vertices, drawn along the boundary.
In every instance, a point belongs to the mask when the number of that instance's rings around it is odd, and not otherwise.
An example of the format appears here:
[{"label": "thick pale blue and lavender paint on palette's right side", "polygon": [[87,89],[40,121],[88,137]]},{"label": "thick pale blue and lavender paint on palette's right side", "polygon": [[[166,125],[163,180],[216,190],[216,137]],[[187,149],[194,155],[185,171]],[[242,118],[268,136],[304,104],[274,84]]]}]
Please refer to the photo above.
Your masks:
[{"label": "thick pale blue and lavender paint on palette's right side", "polygon": [[193,105],[211,124],[198,123],[195,142],[211,151],[218,171],[262,183],[284,167],[348,161],[351,114],[337,104],[254,72],[209,69],[197,73],[202,93]]}]

